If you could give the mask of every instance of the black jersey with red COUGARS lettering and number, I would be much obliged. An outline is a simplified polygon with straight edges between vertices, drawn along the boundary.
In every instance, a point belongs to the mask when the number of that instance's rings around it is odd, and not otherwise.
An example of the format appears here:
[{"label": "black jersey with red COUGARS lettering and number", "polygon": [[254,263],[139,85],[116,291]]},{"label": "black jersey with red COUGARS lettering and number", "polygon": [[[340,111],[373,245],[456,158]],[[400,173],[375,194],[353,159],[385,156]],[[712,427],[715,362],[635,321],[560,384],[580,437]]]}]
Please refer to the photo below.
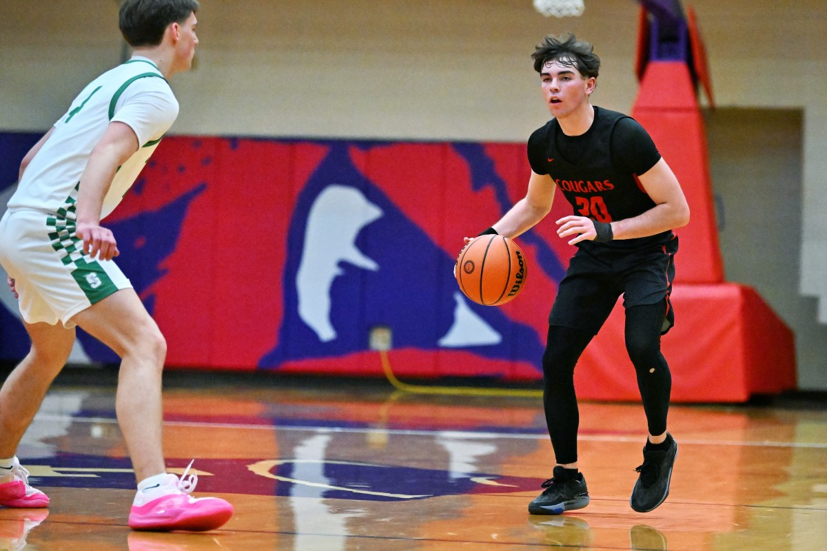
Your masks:
[{"label": "black jersey with red COUGARS lettering and number", "polygon": [[[655,206],[643,190],[638,174],[651,169],[661,156],[652,139],[631,117],[595,107],[595,119],[586,133],[565,135],[557,119],[528,138],[528,163],[538,174],[550,174],[576,216],[611,222],[643,214]],[[609,243],[581,241],[586,248],[606,246],[633,249],[660,245],[672,231]]]}]

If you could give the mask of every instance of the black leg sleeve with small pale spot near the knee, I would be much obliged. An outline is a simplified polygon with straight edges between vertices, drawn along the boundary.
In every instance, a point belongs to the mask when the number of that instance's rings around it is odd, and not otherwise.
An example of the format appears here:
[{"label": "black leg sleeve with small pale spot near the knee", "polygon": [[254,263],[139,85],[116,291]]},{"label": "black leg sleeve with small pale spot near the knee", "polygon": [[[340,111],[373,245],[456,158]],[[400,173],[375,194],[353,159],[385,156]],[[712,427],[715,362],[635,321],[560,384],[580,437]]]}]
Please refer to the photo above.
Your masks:
[{"label": "black leg sleeve with small pale spot near the knee", "polygon": [[661,354],[661,327],[666,303],[632,306],[626,310],[626,349],[638,376],[638,388],[650,435],[667,430],[672,373]]}]

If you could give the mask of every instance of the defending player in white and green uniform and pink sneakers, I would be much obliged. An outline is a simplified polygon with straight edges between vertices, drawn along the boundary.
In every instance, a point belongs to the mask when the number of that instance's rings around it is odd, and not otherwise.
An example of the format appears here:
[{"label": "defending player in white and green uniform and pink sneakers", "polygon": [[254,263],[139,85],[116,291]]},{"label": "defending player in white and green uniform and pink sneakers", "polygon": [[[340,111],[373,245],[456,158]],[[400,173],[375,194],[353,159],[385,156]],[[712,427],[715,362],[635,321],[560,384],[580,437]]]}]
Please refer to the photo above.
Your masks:
[{"label": "defending player in white and green uniform and pink sneakers", "polygon": [[[166,343],[101,221],[117,207],[178,116],[167,78],[189,69],[197,0],[126,0],[119,26],[133,57],[93,80],[21,163],[0,221],[0,263],[18,297],[31,352],[0,389],[0,506],[44,507],[17,457],[26,428],[64,367],[74,327],[121,358],[116,409],[138,489],[136,530],[212,530],[232,516],[222,499],[189,496],[197,477],[165,472],[161,370]],[[188,469],[189,470],[189,469]]]}]

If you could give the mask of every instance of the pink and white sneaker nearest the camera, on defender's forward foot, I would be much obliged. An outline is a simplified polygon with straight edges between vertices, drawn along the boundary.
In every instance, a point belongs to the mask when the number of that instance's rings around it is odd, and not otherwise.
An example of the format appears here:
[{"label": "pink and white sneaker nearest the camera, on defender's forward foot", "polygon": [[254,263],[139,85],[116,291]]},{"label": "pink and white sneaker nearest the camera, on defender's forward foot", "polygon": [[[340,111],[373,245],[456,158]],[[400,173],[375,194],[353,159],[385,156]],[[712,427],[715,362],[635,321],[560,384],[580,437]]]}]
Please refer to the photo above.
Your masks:
[{"label": "pink and white sneaker nearest the camera, on defender's forward foot", "polygon": [[198,483],[198,476],[189,475],[189,467],[179,479],[166,475],[160,486],[149,492],[137,492],[129,511],[132,530],[213,530],[232,516],[232,505],[218,497],[189,495]]}]

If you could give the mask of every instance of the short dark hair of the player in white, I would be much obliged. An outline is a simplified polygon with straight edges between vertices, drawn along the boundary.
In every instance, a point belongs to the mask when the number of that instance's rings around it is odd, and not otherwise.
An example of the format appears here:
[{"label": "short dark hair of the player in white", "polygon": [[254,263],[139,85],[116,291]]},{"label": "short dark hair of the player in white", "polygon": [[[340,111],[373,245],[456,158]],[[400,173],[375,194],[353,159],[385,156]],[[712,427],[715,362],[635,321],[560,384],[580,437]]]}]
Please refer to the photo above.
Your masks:
[{"label": "short dark hair of the player in white", "polygon": [[198,11],[198,0],[124,0],[118,26],[133,48],[156,46],[170,23],[183,23]]}]

